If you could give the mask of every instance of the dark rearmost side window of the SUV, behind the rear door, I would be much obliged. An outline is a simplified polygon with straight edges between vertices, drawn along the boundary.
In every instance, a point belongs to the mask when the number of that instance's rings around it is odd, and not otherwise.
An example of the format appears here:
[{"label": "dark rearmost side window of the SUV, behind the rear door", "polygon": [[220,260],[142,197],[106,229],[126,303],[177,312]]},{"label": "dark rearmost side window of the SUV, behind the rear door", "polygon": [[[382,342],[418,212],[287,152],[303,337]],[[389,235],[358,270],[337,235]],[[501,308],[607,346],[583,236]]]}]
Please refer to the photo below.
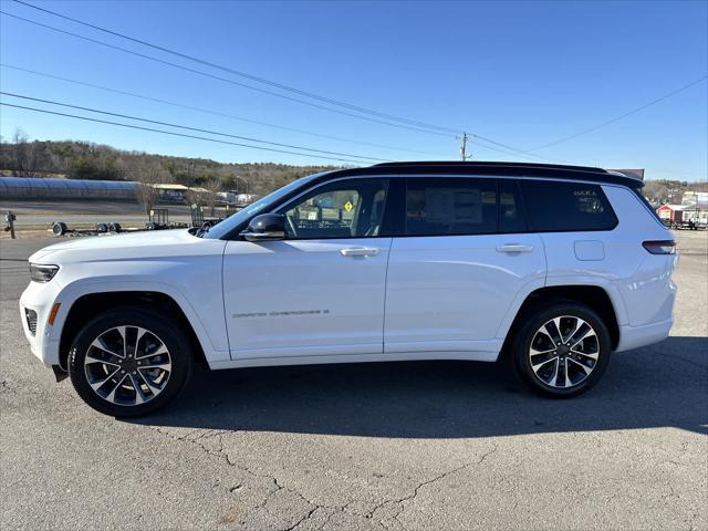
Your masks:
[{"label": "dark rearmost side window of the SUV, behind the rear door", "polygon": [[521,190],[532,232],[612,230],[617,225],[597,185],[524,179]]}]

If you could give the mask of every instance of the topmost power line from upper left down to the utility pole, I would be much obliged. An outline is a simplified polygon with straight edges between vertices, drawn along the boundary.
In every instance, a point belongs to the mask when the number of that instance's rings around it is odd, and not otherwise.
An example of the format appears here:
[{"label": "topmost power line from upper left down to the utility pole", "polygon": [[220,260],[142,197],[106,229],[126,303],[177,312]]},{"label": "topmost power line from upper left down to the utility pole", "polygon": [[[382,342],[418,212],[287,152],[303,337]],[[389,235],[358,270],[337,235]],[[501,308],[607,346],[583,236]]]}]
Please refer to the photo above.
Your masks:
[{"label": "topmost power line from upper left down to the utility pole", "polygon": [[42,11],[44,13],[49,13],[49,14],[51,14],[53,17],[58,17],[58,18],[63,19],[63,20],[69,20],[71,22],[84,25],[86,28],[91,28],[91,29],[94,29],[94,30],[97,30],[97,31],[102,31],[102,32],[107,33],[110,35],[118,37],[121,39],[125,39],[125,40],[135,42],[137,44],[142,44],[144,46],[148,46],[148,48],[152,48],[154,50],[158,50],[160,52],[169,53],[171,55],[176,55],[176,56],[181,58],[181,59],[187,59],[189,61],[194,61],[196,63],[204,64],[205,66],[210,66],[212,69],[221,70],[223,72],[228,72],[230,74],[235,74],[235,75],[238,75],[238,76],[241,76],[241,77],[246,77],[248,80],[256,81],[258,83],[263,83],[266,85],[273,86],[273,87],[280,88],[282,91],[293,92],[293,93],[299,94],[301,96],[306,96],[306,97],[310,97],[310,98],[313,98],[313,100],[319,100],[321,102],[325,102],[325,103],[329,103],[331,105],[342,106],[342,107],[348,108],[351,111],[356,111],[358,113],[369,114],[369,115],[373,115],[373,116],[378,116],[381,118],[392,119],[392,121],[395,121],[395,122],[402,122],[402,123],[406,123],[406,124],[414,125],[414,126],[417,126],[417,127],[424,127],[424,128],[437,129],[437,131],[445,131],[445,132],[454,133],[454,134],[458,132],[457,129],[454,129],[454,128],[450,128],[450,127],[445,127],[445,126],[435,125],[435,124],[427,124],[425,122],[418,122],[418,121],[409,119],[409,118],[402,118],[399,116],[394,116],[392,114],[382,113],[382,112],[374,111],[374,110],[371,110],[371,108],[366,108],[366,107],[362,107],[362,106],[358,106],[358,105],[353,105],[351,103],[346,103],[346,102],[342,102],[342,101],[339,101],[339,100],[334,100],[334,98],[331,98],[331,97],[322,96],[322,95],[315,94],[313,92],[303,91],[301,88],[295,88],[295,87],[290,86],[290,85],[285,85],[285,84],[282,84],[282,83],[278,83],[278,82],[274,82],[274,81],[267,80],[264,77],[260,77],[260,76],[257,76],[257,75],[253,75],[253,74],[249,74],[247,72],[235,70],[235,69],[231,69],[229,66],[223,66],[221,64],[214,63],[214,62],[207,61],[205,59],[196,58],[194,55],[188,55],[186,53],[178,52],[178,51],[171,50],[169,48],[160,46],[158,44],[155,44],[155,43],[142,40],[142,39],[129,37],[129,35],[126,35],[124,33],[119,33],[117,31],[108,30],[106,28],[102,28],[100,25],[92,24],[92,23],[85,22],[83,20],[74,19],[72,17],[69,17],[69,15],[65,15],[65,14],[62,14],[62,13],[58,13],[56,11],[52,11],[52,10],[49,10],[49,9],[45,9],[45,8],[41,8],[39,6],[34,6],[34,4],[29,3],[29,2],[24,2],[24,1],[21,1],[21,0],[14,0],[14,2],[19,3],[19,4],[22,4],[22,6],[25,6],[28,8],[31,8],[31,9],[35,9],[38,11]]}]

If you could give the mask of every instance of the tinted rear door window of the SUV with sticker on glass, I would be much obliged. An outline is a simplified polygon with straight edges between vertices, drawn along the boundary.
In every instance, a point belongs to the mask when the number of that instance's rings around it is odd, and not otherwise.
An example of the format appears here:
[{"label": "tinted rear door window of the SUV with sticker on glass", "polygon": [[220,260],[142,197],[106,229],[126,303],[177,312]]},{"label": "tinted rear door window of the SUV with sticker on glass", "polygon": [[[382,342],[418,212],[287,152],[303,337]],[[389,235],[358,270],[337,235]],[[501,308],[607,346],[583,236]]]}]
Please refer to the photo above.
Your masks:
[{"label": "tinted rear door window of the SUV with sticker on glass", "polygon": [[494,179],[409,178],[408,236],[488,235],[497,231]]}]

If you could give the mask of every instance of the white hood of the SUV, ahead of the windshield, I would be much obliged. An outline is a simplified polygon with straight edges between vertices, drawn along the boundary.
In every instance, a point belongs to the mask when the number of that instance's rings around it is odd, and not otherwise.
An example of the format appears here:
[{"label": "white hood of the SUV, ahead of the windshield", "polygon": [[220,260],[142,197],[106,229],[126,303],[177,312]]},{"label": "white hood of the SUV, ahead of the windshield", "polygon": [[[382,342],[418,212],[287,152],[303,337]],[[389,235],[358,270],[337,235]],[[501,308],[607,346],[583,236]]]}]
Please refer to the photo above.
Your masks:
[{"label": "white hood of the SUV, ahead of the windshield", "polygon": [[121,260],[167,256],[178,252],[176,248],[199,244],[205,241],[190,235],[187,229],[152,230],[123,235],[106,233],[67,239],[60,243],[54,243],[37,251],[29,258],[29,261],[35,263],[62,263],[66,261]]}]

